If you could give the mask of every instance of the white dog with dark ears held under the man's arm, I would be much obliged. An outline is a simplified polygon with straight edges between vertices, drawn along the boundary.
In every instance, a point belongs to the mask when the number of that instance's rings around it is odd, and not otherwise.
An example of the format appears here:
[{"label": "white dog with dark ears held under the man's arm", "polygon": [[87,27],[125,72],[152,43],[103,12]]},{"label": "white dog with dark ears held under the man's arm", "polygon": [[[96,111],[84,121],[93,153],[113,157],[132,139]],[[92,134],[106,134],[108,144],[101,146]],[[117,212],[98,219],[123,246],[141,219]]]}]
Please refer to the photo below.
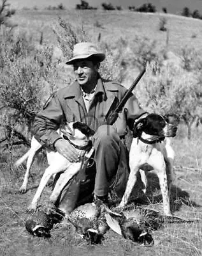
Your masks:
[{"label": "white dog with dark ears held under the man's arm", "polygon": [[[55,152],[46,148],[49,166],[43,173],[40,185],[38,186],[34,198],[32,199],[32,202],[28,207],[28,209],[30,210],[36,210],[38,202],[40,200],[41,193],[45,188],[50,177],[52,177],[52,175],[55,175],[56,173],[63,172],[59,177],[59,180],[57,180],[57,183],[54,187],[54,191],[50,196],[50,203],[54,204],[64,186],[83,167],[83,159],[85,159],[86,161],[93,152],[92,141],[90,141],[90,138],[93,136],[94,131],[92,131],[92,129],[90,129],[86,124],[83,124],[81,122],[71,122],[69,124],[62,125],[60,132],[62,138],[68,140],[76,148],[76,150],[80,151],[80,155],[83,157],[79,162],[70,163],[68,159],[59,154],[59,152]],[[40,148],[41,144],[34,137],[32,137],[31,149],[24,156],[18,159],[18,161],[15,163],[15,166],[18,166],[19,164],[22,164],[22,162],[28,157],[28,166],[25,173],[25,179],[22,184],[22,187],[20,188],[23,191],[27,189],[29,170],[34,155],[36,154],[36,152],[38,152]]]}]

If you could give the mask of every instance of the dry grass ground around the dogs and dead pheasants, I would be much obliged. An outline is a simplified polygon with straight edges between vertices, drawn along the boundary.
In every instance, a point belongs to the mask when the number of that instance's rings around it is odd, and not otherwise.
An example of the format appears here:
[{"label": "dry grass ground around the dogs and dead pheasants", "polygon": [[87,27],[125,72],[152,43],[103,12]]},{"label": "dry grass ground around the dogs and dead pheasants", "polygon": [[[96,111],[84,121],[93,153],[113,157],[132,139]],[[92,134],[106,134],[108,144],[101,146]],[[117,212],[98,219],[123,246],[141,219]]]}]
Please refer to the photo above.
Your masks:
[{"label": "dry grass ground around the dogs and dead pheasants", "polygon": [[[1,255],[201,255],[202,252],[202,156],[201,131],[195,131],[191,141],[182,135],[179,129],[173,139],[176,152],[176,181],[173,185],[173,209],[177,216],[199,218],[192,223],[164,224],[153,232],[155,245],[152,248],[137,246],[119,235],[108,231],[103,243],[90,246],[76,236],[71,226],[56,226],[50,239],[32,237],[25,230],[26,208],[36,191],[46,163],[34,161],[29,179],[29,190],[24,195],[18,194],[24,172],[9,172],[6,157],[1,154],[0,185],[0,253]],[[193,150],[194,148],[194,150]],[[25,148],[15,150],[14,158],[25,152]],[[184,168],[182,168],[184,166]],[[186,169],[187,168],[187,169]],[[190,169],[189,169],[190,168]],[[162,211],[162,198],[157,178],[150,173],[147,207]],[[41,202],[47,200],[50,188],[45,188]],[[135,198],[135,191],[133,197]]]}]

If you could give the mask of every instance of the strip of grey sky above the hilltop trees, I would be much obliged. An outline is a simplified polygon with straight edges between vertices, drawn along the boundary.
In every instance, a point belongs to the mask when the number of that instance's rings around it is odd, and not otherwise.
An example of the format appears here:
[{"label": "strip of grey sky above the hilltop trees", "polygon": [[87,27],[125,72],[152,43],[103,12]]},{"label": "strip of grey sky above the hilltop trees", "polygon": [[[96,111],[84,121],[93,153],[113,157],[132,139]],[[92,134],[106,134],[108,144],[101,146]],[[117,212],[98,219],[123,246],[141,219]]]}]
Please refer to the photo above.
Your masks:
[{"label": "strip of grey sky above the hilltop trees", "polygon": [[[199,10],[202,12],[202,0],[86,0],[90,6],[97,6],[101,8],[101,3],[112,3],[113,6],[140,6],[143,3],[152,3],[157,10],[161,11],[162,7],[166,7],[169,13],[177,13],[187,6],[191,11]],[[8,0],[14,8],[38,6],[44,8],[49,5],[57,6],[62,3],[66,8],[75,8],[76,4],[80,4],[80,0]]]}]

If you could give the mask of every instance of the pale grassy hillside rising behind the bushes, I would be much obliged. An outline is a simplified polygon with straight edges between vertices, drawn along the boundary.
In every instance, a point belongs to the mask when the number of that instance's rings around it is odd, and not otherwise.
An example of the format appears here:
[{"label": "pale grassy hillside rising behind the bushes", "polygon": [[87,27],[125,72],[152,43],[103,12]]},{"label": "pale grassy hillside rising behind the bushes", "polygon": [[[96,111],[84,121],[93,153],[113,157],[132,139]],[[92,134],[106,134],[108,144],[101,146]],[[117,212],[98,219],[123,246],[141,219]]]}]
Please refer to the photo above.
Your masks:
[{"label": "pale grassy hillside rising behind the bushes", "polygon": [[[45,39],[54,43],[52,26],[57,23],[57,17],[61,16],[74,26],[82,26],[92,38],[96,40],[99,33],[108,42],[114,42],[120,36],[126,40],[132,40],[135,36],[146,36],[150,40],[156,40],[159,50],[166,45],[168,34],[168,47],[170,51],[178,53],[183,47],[193,47],[200,50],[202,40],[202,20],[186,18],[178,15],[164,13],[137,13],[129,11],[18,11],[14,15],[13,22],[17,23],[18,31],[25,29],[29,34],[40,38],[43,31]],[[168,33],[159,30],[159,22],[166,19]],[[99,28],[96,26],[99,24]]]}]

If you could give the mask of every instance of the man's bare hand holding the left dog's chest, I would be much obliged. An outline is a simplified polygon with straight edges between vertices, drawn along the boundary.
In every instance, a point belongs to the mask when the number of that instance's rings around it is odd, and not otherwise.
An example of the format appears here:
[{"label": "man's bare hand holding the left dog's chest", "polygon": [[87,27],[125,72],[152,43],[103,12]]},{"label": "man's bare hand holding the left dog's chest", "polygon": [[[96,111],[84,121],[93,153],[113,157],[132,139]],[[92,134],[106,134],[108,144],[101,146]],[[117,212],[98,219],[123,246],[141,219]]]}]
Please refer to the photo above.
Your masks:
[{"label": "man's bare hand holding the left dog's chest", "polygon": [[69,162],[78,162],[80,161],[80,154],[76,150],[69,141],[64,139],[59,139],[55,141],[55,148],[57,152],[59,152],[62,156],[66,157],[66,159],[69,160]]}]

